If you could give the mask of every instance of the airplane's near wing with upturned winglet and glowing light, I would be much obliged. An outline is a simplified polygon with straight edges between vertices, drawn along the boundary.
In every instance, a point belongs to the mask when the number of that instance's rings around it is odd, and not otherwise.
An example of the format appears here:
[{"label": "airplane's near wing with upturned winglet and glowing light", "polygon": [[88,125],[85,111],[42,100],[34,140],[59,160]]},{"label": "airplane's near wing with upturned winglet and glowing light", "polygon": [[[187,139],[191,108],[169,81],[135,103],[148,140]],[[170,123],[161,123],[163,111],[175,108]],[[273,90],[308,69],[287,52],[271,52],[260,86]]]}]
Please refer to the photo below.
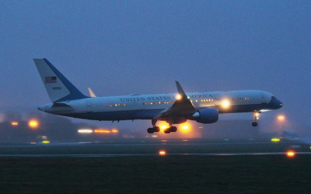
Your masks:
[{"label": "airplane's near wing with upturned winglet and glowing light", "polygon": [[176,101],[170,108],[155,115],[155,120],[169,120],[170,117],[185,117],[196,112],[193,104],[190,99],[188,99],[178,81],[176,81],[176,86],[178,91]]}]

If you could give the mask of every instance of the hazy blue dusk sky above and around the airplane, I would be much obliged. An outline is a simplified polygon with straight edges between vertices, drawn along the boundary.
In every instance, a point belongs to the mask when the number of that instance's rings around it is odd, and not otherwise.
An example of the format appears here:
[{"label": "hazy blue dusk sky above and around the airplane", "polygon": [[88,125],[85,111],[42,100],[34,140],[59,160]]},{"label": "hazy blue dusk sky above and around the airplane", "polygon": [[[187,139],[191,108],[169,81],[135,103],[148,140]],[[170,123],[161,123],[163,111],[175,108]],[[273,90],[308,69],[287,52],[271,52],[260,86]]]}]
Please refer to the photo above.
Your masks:
[{"label": "hazy blue dusk sky above and around the airplane", "polygon": [[311,1],[10,0],[0,24],[0,107],[50,103],[47,58],[87,95],[258,89],[310,125]]}]

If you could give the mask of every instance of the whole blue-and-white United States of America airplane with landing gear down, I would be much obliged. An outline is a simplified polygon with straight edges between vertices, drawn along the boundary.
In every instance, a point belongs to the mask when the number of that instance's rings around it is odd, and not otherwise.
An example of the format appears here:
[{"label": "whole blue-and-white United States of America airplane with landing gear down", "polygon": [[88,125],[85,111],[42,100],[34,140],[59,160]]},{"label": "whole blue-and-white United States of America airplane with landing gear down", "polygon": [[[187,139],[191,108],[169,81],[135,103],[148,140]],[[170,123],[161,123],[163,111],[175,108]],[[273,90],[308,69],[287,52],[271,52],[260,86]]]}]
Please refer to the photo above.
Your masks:
[{"label": "whole blue-and-white United States of America airplane with landing gear down", "polygon": [[[148,119],[152,128],[148,133],[159,132],[157,121],[166,121],[165,133],[175,132],[174,124],[187,120],[209,124],[218,121],[222,113],[253,113],[252,126],[258,125],[258,114],[279,109],[283,103],[274,95],[260,90],[237,90],[185,93],[176,81],[177,93],[137,93],[126,96],[87,97],[47,59],[34,59],[43,84],[52,101],[38,110],[73,118],[121,121]],[[91,91],[91,90],[89,90]]]}]

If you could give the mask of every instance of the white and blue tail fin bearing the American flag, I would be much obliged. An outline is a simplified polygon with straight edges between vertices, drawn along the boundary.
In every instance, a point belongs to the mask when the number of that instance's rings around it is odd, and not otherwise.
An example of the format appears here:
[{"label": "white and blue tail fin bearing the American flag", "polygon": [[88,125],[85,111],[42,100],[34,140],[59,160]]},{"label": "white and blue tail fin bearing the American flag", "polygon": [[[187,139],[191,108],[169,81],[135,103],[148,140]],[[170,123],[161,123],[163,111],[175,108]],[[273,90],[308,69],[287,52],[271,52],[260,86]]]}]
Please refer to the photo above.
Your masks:
[{"label": "white and blue tail fin bearing the American flag", "polygon": [[47,59],[34,59],[34,62],[52,102],[87,98]]}]

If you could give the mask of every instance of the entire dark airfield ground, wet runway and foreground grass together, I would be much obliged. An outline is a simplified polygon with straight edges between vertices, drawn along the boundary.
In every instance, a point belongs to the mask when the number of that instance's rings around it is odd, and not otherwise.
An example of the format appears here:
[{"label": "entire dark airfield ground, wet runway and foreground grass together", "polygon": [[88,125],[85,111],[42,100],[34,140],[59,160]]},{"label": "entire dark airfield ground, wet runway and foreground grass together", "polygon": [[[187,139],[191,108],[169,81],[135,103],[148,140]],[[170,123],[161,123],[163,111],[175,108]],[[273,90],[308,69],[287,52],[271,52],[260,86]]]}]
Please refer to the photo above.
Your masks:
[{"label": "entire dark airfield ground, wet runway and foreground grass together", "polygon": [[[310,153],[299,142],[125,142],[0,145],[0,194],[310,194],[311,155],[200,156],[177,153]],[[158,156],[165,149],[166,156]],[[49,154],[147,154],[53,157]],[[39,154],[14,157],[11,154]],[[46,154],[46,155],[42,155]],[[151,154],[151,155],[148,155]],[[152,155],[154,154],[154,155]]]}]

